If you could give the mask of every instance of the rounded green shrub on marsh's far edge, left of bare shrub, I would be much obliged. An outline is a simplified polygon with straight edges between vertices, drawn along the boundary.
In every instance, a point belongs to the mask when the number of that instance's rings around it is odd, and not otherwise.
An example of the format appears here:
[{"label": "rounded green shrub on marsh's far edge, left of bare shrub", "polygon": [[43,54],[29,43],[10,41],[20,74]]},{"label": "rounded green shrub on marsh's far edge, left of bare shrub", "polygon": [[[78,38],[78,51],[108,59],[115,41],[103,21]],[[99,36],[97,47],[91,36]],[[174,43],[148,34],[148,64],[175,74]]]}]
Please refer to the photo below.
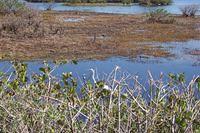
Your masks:
[{"label": "rounded green shrub on marsh's far edge, left of bare shrub", "polygon": [[147,21],[150,23],[173,23],[174,19],[164,9],[156,9],[146,14]]}]

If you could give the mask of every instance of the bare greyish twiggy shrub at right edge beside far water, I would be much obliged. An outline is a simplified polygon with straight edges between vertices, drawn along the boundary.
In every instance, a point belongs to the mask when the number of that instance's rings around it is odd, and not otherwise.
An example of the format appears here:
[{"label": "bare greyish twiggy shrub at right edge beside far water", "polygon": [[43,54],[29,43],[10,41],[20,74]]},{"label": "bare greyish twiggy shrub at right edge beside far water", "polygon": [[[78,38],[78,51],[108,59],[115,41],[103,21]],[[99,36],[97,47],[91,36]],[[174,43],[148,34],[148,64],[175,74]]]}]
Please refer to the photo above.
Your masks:
[{"label": "bare greyish twiggy shrub at right edge beside far water", "polygon": [[199,11],[198,5],[187,5],[180,8],[182,15],[185,17],[194,17]]}]

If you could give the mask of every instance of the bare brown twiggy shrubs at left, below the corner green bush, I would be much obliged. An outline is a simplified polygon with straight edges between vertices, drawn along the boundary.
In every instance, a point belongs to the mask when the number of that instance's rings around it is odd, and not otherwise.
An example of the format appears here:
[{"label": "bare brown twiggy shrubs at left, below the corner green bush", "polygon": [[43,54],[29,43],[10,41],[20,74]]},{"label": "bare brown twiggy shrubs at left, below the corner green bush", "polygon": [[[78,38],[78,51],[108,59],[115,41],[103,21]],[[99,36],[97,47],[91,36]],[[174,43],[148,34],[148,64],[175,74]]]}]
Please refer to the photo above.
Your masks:
[{"label": "bare brown twiggy shrubs at left, below the corner green bush", "polygon": [[18,14],[7,14],[0,24],[0,36],[16,38],[44,37],[45,35],[64,35],[60,24],[45,24],[42,14],[33,9],[26,9]]}]

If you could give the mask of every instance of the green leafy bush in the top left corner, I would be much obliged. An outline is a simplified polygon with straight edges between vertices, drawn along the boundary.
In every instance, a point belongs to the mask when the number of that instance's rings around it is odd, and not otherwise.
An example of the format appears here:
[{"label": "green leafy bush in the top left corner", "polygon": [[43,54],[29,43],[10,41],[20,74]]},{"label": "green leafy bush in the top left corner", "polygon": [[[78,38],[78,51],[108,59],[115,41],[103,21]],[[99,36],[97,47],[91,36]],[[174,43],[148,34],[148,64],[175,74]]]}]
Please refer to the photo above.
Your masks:
[{"label": "green leafy bush in the top left corner", "polygon": [[24,10],[26,7],[19,0],[0,0],[0,13],[17,13]]}]

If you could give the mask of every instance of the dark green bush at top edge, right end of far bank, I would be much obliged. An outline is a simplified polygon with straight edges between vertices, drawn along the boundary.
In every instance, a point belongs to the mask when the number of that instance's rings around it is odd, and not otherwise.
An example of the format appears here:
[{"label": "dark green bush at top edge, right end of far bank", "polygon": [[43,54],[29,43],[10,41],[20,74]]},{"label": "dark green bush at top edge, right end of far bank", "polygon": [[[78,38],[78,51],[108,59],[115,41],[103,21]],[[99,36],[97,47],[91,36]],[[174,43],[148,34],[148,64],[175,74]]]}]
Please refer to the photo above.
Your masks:
[{"label": "dark green bush at top edge, right end of far bank", "polygon": [[139,3],[141,5],[148,5],[148,6],[169,5],[172,3],[172,0],[139,0]]}]

